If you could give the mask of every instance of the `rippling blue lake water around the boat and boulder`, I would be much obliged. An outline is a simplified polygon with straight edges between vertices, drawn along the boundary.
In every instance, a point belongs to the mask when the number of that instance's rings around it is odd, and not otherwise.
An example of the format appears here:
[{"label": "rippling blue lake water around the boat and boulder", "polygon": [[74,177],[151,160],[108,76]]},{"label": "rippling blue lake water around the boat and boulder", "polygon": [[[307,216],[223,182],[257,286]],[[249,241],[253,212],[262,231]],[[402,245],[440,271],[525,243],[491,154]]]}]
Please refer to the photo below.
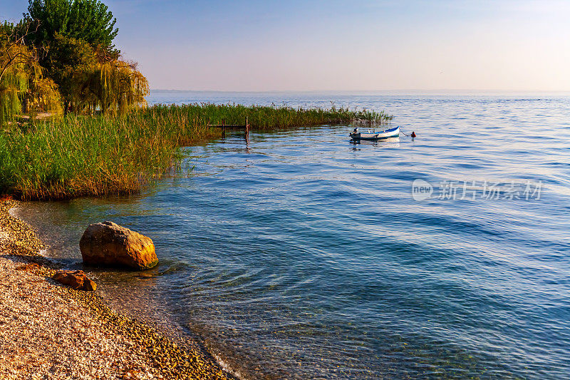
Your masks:
[{"label": "rippling blue lake water around the boat and boulder", "polygon": [[184,173],[140,195],[16,212],[69,267],[91,222],[152,237],[160,265],[142,276],[87,269],[115,307],[194,337],[244,379],[568,378],[570,96],[149,101],[332,101],[388,111],[418,137],[235,132],[186,148]]}]

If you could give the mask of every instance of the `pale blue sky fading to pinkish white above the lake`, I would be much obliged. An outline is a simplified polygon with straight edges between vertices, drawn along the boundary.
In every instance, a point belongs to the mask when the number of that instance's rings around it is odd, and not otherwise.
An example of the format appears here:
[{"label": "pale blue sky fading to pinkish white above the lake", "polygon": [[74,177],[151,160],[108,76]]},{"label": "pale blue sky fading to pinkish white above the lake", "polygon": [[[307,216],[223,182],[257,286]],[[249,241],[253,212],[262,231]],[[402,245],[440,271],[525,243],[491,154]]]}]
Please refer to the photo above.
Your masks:
[{"label": "pale blue sky fading to pinkish white above the lake", "polygon": [[570,0],[103,2],[153,89],[570,91]]}]

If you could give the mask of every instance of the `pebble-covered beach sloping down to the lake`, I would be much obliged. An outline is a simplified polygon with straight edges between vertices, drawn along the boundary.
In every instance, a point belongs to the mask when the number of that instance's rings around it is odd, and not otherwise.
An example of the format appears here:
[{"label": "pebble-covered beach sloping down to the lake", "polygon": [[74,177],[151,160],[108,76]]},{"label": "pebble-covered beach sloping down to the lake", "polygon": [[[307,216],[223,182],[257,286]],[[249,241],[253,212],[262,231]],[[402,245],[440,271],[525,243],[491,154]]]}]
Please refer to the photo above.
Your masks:
[{"label": "pebble-covered beach sloping down to the lake", "polygon": [[14,206],[0,201],[0,379],[229,378],[203,350],[182,349],[97,292],[53,282],[58,267],[9,215]]}]

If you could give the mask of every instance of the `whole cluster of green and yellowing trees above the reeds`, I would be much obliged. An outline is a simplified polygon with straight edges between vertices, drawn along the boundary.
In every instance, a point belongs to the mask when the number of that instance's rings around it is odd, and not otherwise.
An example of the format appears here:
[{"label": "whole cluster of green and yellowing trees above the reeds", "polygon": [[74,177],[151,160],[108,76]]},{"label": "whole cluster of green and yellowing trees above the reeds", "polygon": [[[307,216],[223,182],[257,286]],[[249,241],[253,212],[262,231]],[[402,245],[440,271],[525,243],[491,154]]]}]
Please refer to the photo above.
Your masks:
[{"label": "whole cluster of green and yellowing trees above the reeds", "polygon": [[145,106],[148,81],[113,46],[115,19],[98,0],[29,0],[0,24],[0,123],[20,113],[126,113]]}]

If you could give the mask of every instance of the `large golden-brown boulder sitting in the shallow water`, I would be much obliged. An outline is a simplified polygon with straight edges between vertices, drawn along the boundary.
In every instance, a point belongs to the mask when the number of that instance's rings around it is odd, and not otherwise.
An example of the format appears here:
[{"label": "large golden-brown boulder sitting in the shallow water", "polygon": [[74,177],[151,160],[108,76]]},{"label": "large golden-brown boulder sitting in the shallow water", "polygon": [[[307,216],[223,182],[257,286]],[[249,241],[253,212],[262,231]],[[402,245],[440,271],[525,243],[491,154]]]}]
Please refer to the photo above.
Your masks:
[{"label": "large golden-brown boulder sitting in the shallow water", "polygon": [[96,223],[87,227],[79,242],[87,265],[148,269],[158,264],[150,237],[116,225]]}]

